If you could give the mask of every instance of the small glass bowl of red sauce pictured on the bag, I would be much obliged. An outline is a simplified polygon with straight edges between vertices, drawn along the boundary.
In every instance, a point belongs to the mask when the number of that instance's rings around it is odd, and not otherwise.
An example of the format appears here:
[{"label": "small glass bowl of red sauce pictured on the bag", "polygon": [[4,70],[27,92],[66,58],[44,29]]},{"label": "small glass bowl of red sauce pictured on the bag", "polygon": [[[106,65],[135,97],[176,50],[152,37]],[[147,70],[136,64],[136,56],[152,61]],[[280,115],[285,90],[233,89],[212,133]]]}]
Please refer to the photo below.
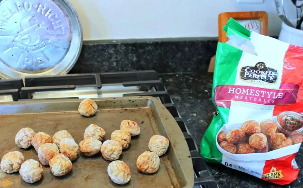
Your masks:
[{"label": "small glass bowl of red sauce pictured on the bag", "polygon": [[291,136],[302,132],[303,115],[298,112],[285,111],[277,116],[277,125],[281,133]]}]

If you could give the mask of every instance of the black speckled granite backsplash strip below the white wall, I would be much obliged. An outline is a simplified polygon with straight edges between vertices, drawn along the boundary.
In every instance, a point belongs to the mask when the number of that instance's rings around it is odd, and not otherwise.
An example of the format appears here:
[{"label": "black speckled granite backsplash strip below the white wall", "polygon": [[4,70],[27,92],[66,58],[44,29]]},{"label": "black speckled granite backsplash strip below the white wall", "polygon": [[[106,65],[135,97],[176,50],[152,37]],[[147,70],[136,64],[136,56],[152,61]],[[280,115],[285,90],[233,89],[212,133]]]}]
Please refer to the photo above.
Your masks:
[{"label": "black speckled granite backsplash strip below the white wall", "polygon": [[207,71],[217,41],[170,41],[83,45],[69,73],[153,69],[158,73]]}]

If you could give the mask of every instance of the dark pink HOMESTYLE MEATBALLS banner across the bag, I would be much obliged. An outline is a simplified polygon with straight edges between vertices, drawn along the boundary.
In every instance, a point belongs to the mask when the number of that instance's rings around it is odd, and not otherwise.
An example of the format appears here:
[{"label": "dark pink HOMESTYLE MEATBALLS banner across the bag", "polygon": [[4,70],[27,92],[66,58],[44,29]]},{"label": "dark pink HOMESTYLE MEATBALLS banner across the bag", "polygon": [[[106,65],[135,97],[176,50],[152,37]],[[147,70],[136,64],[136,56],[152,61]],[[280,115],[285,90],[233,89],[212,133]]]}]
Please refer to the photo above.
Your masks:
[{"label": "dark pink HOMESTYLE MEATBALLS banner across the bag", "polygon": [[218,106],[229,108],[231,101],[261,105],[289,105],[297,100],[299,85],[281,83],[280,89],[251,86],[221,85],[215,88],[214,99]]}]

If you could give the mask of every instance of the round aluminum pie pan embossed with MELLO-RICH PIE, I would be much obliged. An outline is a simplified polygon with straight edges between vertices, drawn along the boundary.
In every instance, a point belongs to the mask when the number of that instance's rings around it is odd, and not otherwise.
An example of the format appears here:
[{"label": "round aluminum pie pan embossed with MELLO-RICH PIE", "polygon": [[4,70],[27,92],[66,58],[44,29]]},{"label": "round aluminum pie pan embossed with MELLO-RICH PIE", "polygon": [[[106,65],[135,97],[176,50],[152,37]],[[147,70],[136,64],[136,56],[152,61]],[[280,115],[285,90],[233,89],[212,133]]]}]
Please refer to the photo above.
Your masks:
[{"label": "round aluminum pie pan embossed with MELLO-RICH PIE", "polygon": [[66,74],[82,41],[68,0],[0,0],[0,78]]}]

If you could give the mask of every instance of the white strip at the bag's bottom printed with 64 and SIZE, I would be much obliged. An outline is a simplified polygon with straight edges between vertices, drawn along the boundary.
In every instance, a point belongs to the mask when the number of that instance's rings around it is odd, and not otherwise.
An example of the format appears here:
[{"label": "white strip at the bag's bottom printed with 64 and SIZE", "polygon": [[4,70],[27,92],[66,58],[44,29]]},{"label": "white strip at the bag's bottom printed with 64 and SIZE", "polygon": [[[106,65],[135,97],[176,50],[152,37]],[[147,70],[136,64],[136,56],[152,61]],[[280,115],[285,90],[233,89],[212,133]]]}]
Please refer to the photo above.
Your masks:
[{"label": "white strip at the bag's bottom printed with 64 and SIZE", "polygon": [[262,177],[265,161],[236,161],[223,154],[222,162],[224,166],[248,173],[258,178]]}]

